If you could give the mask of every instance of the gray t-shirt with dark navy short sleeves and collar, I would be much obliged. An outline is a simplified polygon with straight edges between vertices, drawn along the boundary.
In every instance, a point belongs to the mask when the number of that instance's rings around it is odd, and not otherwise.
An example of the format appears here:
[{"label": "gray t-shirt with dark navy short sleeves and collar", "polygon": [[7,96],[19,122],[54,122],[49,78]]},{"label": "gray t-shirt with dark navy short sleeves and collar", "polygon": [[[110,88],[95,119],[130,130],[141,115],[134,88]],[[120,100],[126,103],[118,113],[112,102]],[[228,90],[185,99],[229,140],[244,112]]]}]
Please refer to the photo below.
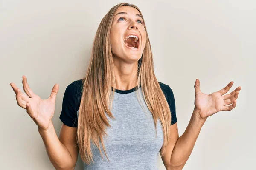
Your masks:
[{"label": "gray t-shirt with dark navy short sleeves and collar", "polygon": [[[161,82],[159,84],[171,109],[171,125],[173,125],[177,122],[177,118],[172,89],[169,85]],[[67,126],[77,127],[82,87],[82,81],[77,80],[65,90],[60,119]],[[145,107],[140,105],[137,91],[140,92],[139,99]],[[91,142],[94,163],[90,165],[84,163],[84,170],[158,170],[157,156],[163,146],[163,130],[158,120],[156,135],[153,116],[145,104],[141,87],[116,90],[111,113],[115,119],[112,120],[107,116],[111,127],[107,128],[108,136],[104,138],[110,162],[102,147],[104,159],[99,149]]]}]

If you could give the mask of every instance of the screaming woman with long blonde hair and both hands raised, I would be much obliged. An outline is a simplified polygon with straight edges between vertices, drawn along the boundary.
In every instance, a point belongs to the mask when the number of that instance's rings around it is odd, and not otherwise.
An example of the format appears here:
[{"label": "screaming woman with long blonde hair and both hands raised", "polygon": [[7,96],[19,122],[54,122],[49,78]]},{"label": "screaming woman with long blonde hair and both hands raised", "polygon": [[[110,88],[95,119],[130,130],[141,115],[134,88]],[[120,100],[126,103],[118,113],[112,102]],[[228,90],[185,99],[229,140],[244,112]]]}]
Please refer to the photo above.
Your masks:
[{"label": "screaming woman with long blonde hair and both hands raised", "polygon": [[159,152],[167,170],[182,169],[207,117],[235,108],[241,90],[226,94],[230,82],[207,95],[196,79],[195,108],[179,137],[172,89],[157,81],[143,15],[128,3],[114,6],[102,19],[85,77],[67,86],[59,138],[52,124],[58,84],[45,100],[25,76],[27,95],[10,85],[18,105],[38,125],[53,166],[74,169],[79,151],[86,170],[155,170]]}]

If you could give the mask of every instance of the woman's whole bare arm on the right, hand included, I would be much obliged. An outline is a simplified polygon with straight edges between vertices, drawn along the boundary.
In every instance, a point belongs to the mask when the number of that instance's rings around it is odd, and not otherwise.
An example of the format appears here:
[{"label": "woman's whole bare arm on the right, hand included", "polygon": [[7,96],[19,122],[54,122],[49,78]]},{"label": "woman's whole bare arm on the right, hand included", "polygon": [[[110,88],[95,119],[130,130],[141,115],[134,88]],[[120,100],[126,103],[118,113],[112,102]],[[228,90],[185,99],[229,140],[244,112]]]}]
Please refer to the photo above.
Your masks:
[{"label": "woman's whole bare arm on the right, hand included", "polygon": [[[207,117],[219,111],[231,111],[236,107],[236,99],[238,98],[241,87],[239,86],[230,94],[226,94],[233,83],[234,82],[230,82],[225,88],[208,95],[201,92],[200,82],[196,79],[194,86],[195,108],[189,121],[189,125],[186,127],[185,132],[178,138],[175,138],[171,134],[175,129],[177,130],[177,123],[170,126],[171,130],[168,148],[166,150],[166,155],[162,157],[163,160],[167,160],[166,156],[170,156],[170,158],[168,158],[170,160],[169,163],[164,161],[167,170],[182,170],[192,153],[196,139],[198,138],[201,127],[204,125]],[[174,146],[173,143],[175,143]]]}]

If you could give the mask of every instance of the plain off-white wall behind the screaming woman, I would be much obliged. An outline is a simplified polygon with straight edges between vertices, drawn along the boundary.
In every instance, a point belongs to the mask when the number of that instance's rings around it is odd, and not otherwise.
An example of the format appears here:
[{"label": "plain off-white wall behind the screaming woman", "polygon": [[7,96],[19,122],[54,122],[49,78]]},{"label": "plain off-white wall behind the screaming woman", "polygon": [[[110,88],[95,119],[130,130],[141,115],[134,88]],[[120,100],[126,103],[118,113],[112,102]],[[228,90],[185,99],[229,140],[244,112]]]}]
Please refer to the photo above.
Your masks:
[{"label": "plain off-white wall behind the screaming woman", "polygon": [[[57,135],[65,88],[85,74],[93,38],[120,0],[0,0],[2,170],[53,170],[38,127],[17,105],[9,85],[49,97],[60,85],[53,123]],[[232,111],[210,116],[184,170],[256,169],[256,2],[254,0],[131,0],[145,18],[154,71],[175,95],[179,134],[194,108],[195,79],[210,94],[230,81],[242,89]],[[160,155],[159,170],[165,170]],[[82,169],[79,156],[76,170]]]}]

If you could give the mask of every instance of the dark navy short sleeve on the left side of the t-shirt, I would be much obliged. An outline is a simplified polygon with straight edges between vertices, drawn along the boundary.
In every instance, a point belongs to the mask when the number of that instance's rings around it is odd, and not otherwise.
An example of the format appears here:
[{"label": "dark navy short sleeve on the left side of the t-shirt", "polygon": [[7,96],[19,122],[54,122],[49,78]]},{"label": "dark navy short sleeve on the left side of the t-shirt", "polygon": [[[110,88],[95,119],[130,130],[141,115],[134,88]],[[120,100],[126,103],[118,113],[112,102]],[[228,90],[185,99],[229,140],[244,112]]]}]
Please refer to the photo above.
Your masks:
[{"label": "dark navy short sleeve on the left side of the t-shirt", "polygon": [[80,106],[81,92],[81,80],[72,82],[67,86],[64,92],[62,109],[59,118],[61,119],[61,122],[67,126],[77,127],[77,111],[79,110]]}]

